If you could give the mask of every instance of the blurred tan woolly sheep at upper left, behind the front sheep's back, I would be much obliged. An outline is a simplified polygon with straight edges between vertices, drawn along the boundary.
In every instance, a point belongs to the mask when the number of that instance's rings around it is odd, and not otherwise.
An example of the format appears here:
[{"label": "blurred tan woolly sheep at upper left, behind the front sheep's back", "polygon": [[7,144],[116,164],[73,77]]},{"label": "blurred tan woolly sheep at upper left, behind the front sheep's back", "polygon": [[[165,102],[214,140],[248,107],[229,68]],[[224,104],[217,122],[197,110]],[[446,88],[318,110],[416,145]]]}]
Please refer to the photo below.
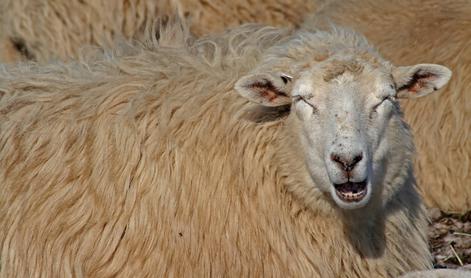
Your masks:
[{"label": "blurred tan woolly sheep at upper left, behind the front sheep's back", "polygon": [[111,47],[117,39],[141,38],[157,16],[186,16],[200,36],[242,22],[299,26],[299,14],[315,7],[314,0],[0,0],[0,50],[12,42],[19,48],[0,53],[0,62],[76,58],[86,45]]}]

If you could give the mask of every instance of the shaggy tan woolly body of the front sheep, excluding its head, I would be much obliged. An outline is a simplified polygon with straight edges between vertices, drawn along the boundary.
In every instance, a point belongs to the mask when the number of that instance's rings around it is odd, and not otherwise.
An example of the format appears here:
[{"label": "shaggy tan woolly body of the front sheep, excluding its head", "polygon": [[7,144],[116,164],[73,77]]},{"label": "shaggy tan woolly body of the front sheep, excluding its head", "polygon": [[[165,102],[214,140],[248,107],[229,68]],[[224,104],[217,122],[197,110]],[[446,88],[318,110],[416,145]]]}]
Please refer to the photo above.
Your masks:
[{"label": "shaggy tan woolly body of the front sheep, excluding its head", "polygon": [[150,50],[1,69],[1,276],[431,267],[410,161],[378,210],[345,212],[303,191],[282,121],[243,120],[251,105],[234,83],[290,30],[247,25],[187,45],[185,28],[167,28]]}]

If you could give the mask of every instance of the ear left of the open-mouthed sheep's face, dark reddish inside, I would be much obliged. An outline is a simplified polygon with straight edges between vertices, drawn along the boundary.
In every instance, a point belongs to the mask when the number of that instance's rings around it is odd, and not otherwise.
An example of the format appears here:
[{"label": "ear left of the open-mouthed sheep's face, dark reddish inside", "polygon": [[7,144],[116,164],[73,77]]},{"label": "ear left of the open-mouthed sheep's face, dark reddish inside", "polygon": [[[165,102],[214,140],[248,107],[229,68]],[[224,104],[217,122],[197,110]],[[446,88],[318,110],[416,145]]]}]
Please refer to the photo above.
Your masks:
[{"label": "ear left of the open-mouthed sheep's face, dark reddish inside", "polygon": [[291,80],[291,76],[282,73],[250,74],[240,78],[235,89],[241,96],[263,106],[282,106],[291,103]]}]

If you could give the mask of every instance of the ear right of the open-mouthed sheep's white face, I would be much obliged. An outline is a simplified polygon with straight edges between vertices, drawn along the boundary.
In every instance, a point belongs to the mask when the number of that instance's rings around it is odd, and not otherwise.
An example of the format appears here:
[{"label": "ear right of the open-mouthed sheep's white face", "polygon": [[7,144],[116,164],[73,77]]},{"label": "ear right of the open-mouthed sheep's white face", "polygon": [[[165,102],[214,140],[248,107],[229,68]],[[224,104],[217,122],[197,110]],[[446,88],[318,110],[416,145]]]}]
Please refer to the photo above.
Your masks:
[{"label": "ear right of the open-mouthed sheep's white face", "polygon": [[392,75],[398,98],[418,98],[445,86],[451,78],[451,70],[440,65],[418,64],[397,67]]}]

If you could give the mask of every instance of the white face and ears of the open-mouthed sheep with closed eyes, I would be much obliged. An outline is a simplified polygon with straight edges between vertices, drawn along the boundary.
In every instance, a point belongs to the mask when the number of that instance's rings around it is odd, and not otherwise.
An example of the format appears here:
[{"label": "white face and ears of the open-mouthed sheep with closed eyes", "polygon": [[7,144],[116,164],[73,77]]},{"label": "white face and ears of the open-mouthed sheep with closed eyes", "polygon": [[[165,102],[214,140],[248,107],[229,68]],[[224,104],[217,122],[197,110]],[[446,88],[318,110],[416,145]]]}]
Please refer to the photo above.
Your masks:
[{"label": "white face and ears of the open-mouthed sheep with closed eyes", "polygon": [[374,193],[383,188],[388,155],[406,148],[397,136],[397,98],[427,95],[445,85],[451,72],[439,65],[392,67],[333,57],[293,76],[249,74],[235,88],[264,106],[290,105],[286,121],[312,186],[328,192],[339,207],[357,209],[381,195]]}]

